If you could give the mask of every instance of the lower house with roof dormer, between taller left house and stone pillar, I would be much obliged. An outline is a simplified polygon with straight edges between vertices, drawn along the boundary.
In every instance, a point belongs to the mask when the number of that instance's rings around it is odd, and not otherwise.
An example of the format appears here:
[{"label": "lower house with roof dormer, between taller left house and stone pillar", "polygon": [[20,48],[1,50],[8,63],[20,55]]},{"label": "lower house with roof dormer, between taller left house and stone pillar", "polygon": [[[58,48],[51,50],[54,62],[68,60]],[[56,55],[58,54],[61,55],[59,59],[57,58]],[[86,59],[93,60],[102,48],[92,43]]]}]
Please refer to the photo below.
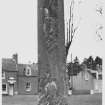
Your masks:
[{"label": "lower house with roof dormer, between taller left house and stone pillar", "polygon": [[36,64],[18,64],[18,94],[38,93],[38,68]]}]

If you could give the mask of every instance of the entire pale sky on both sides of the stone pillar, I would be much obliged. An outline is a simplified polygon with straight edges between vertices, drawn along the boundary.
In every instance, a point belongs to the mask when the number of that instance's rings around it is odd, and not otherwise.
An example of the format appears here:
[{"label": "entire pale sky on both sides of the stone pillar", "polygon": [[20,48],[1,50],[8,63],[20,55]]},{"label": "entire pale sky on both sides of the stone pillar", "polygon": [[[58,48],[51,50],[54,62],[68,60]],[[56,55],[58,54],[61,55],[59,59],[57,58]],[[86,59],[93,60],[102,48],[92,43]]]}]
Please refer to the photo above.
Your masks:
[{"label": "entire pale sky on both sides of the stone pillar", "polygon": [[[64,0],[65,21],[71,0]],[[103,57],[104,36],[96,35],[98,25],[105,25],[104,16],[96,12],[103,0],[75,0],[74,21],[78,26],[67,61],[78,56],[80,61],[92,55]],[[66,31],[66,30],[65,30]],[[0,58],[18,53],[19,63],[37,62],[37,0],[0,0]]]}]

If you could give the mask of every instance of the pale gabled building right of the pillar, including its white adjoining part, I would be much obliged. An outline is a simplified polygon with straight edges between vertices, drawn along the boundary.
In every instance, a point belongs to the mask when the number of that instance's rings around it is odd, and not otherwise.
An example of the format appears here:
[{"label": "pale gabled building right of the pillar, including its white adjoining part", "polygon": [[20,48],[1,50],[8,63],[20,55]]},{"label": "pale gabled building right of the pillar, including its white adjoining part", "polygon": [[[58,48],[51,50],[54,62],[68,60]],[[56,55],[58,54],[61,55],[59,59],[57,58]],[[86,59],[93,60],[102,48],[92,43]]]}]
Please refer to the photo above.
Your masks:
[{"label": "pale gabled building right of the pillar, including its white adjoining part", "polygon": [[71,76],[72,94],[93,94],[102,92],[102,74],[85,68]]}]

